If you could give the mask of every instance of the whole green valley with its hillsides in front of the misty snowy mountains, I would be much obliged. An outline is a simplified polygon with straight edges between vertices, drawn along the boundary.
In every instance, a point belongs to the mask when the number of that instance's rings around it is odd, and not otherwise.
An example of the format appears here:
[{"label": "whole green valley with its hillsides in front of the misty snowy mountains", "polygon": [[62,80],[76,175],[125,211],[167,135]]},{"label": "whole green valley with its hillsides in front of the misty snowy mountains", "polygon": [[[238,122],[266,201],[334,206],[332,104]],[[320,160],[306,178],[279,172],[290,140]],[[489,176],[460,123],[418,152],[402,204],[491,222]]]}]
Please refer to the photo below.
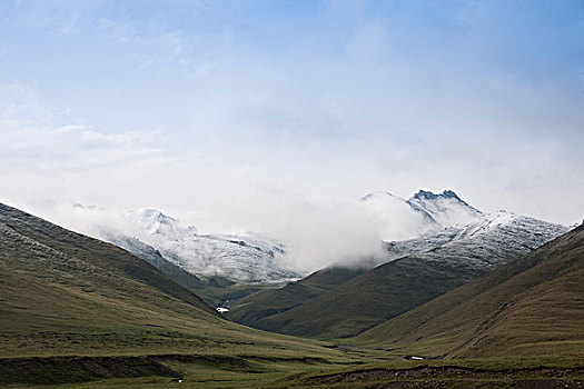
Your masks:
[{"label": "whole green valley with its hillsides in front of the misty snowy mountains", "polygon": [[[0,382],[580,388],[584,229],[565,231],[481,215],[436,238],[386,242],[380,266],[333,266],[254,291],[188,272],[149,245],[119,241],[138,258],[2,205]],[[395,259],[392,248],[409,251]],[[236,288],[247,296],[231,297]],[[219,315],[199,292],[229,296],[234,309]]]}]

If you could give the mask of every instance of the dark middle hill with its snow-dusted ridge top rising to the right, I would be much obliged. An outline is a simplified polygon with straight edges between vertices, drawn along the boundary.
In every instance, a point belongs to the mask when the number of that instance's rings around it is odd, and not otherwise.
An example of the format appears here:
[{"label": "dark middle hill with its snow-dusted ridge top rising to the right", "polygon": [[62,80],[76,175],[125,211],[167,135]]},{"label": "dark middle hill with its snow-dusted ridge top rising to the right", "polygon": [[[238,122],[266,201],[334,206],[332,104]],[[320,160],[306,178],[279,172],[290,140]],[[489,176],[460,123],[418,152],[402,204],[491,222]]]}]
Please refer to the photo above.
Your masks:
[{"label": "dark middle hill with its snow-dusted ridge top rising to the right", "polygon": [[[352,337],[493,271],[567,230],[565,226],[505,211],[479,216],[435,237],[386,242],[395,260],[383,265],[362,262],[362,267],[372,269],[307,297],[290,299],[286,288],[250,295],[236,302],[230,317],[288,335]],[[352,266],[358,268],[357,263]],[[335,273],[334,268],[330,273]],[[326,271],[318,278],[324,275]],[[268,293],[270,298],[264,299],[263,295]]]}]

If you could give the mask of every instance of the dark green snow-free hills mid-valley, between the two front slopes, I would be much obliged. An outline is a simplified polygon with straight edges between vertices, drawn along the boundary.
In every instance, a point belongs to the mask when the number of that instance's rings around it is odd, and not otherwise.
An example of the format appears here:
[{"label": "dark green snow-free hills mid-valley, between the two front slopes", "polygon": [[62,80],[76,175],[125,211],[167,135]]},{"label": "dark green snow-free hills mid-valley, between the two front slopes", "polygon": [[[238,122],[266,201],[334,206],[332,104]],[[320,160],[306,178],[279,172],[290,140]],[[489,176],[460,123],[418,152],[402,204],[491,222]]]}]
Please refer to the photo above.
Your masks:
[{"label": "dark green snow-free hills mid-valley, between the two front slopes", "polygon": [[250,295],[237,301],[230,317],[268,331],[347,338],[485,272],[485,269],[410,256],[360,276],[352,272],[347,273],[352,277],[331,279],[327,288],[315,290],[310,283],[305,287],[303,280],[279,290]]}]

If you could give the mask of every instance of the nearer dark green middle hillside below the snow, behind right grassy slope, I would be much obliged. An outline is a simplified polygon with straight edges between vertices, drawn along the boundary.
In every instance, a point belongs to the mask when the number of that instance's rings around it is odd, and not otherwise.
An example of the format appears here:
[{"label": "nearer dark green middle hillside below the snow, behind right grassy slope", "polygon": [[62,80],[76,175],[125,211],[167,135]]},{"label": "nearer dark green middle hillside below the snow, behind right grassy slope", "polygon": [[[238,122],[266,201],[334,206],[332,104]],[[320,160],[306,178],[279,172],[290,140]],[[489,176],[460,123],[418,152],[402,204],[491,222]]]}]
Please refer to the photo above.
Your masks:
[{"label": "nearer dark green middle hillside below the snow, behind right grassy slope", "polygon": [[353,337],[481,275],[475,269],[413,256],[385,263],[298,307],[266,317],[257,328],[324,339]]}]

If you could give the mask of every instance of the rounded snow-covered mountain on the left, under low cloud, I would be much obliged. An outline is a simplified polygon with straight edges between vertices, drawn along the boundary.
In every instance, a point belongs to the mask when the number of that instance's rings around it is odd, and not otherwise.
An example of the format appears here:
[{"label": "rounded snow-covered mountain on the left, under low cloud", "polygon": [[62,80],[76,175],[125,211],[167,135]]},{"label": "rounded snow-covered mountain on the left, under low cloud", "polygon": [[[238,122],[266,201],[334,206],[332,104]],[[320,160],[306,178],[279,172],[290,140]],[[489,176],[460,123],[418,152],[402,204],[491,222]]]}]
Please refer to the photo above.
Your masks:
[{"label": "rounded snow-covered mountain on the left, under low cloud", "polygon": [[[129,211],[126,220],[139,241],[194,275],[246,282],[285,282],[299,277],[285,267],[284,245],[259,235],[200,235],[194,226],[182,226],[156,209]],[[127,239],[132,232],[109,230],[102,235],[115,245],[122,242],[125,249],[140,257],[141,245]]]}]

